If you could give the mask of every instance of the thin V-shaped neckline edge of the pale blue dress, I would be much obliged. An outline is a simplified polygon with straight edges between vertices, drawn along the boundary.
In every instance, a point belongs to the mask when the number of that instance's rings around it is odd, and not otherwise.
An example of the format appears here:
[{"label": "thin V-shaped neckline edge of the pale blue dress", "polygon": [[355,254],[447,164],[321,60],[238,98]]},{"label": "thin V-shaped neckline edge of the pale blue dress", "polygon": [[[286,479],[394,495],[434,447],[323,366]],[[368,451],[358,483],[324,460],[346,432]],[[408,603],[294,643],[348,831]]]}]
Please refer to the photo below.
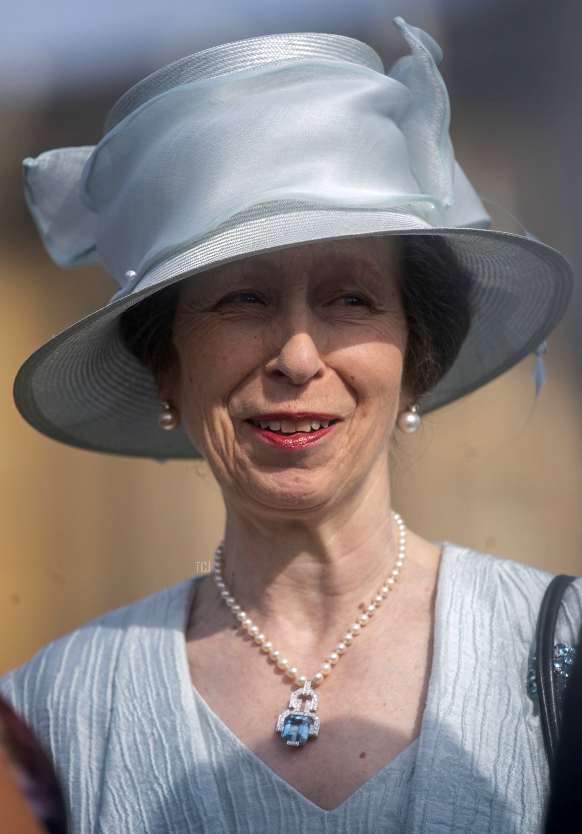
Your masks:
[{"label": "thin V-shaped neckline edge of the pale blue dress", "polygon": [[[446,557],[447,557],[447,552],[448,552],[449,547],[450,547],[449,542],[435,542],[434,544],[435,544],[435,546],[437,546],[441,549],[441,556],[440,556],[440,561],[439,561],[439,573],[437,575],[436,594],[435,594],[435,600],[434,600],[433,635],[437,630],[436,617],[437,617],[437,611],[439,610],[439,605],[438,605],[438,603],[439,603],[439,589],[440,589],[440,586],[442,585],[441,579],[442,579],[442,575],[443,575],[443,570],[445,570],[445,561],[446,561]],[[418,748],[420,746],[420,740],[421,740],[421,737],[422,737],[422,734],[423,734],[424,716],[427,714],[428,706],[429,706],[429,702],[430,702],[431,684],[434,680],[434,654],[433,654],[432,668],[431,668],[430,676],[429,676],[427,699],[426,699],[426,704],[424,706],[423,719],[422,719],[421,724],[420,724],[419,736],[417,736],[414,739],[414,741],[411,741],[410,744],[408,746],[406,746],[404,748],[404,750],[400,751],[397,756],[394,756],[394,759],[391,759],[390,761],[388,761],[383,767],[380,768],[379,771],[376,771],[374,774],[372,774],[372,776],[370,776],[369,779],[367,779],[359,787],[357,787],[353,793],[351,793],[349,796],[346,796],[344,801],[340,802],[339,805],[335,806],[334,808],[331,808],[328,811],[325,808],[322,808],[321,806],[317,805],[315,802],[308,799],[307,796],[304,796],[303,793],[298,791],[297,788],[295,788],[293,785],[290,785],[281,776],[278,776],[278,774],[275,771],[273,771],[273,769],[271,767],[269,767],[267,764],[265,764],[265,762],[261,758],[259,758],[259,756],[257,756],[255,753],[253,753],[253,751],[250,749],[250,747],[246,746],[243,743],[243,741],[241,741],[238,738],[238,736],[236,736],[235,733],[233,733],[233,731],[230,729],[230,727],[228,727],[228,725],[226,725],[224,723],[224,721],[211,709],[211,707],[208,706],[207,701],[205,701],[203,696],[198,692],[196,686],[194,686],[194,684],[193,684],[192,677],[190,676],[190,668],[188,666],[186,631],[187,631],[187,628],[188,628],[188,619],[189,619],[189,615],[190,615],[190,610],[192,608],[194,595],[196,594],[196,591],[198,590],[198,585],[200,584],[200,582],[203,579],[206,578],[206,576],[207,576],[207,574],[194,576],[193,579],[190,581],[190,584],[188,586],[188,593],[185,595],[185,597],[186,597],[186,599],[185,599],[185,610],[183,610],[183,612],[182,612],[183,613],[183,621],[182,621],[181,639],[183,641],[183,651],[180,652],[180,659],[181,659],[180,673],[181,673],[181,675],[186,677],[186,679],[188,681],[189,689],[190,689],[191,694],[192,694],[192,701],[191,701],[191,704],[189,706],[192,706],[193,710],[197,714],[198,714],[198,710],[202,709],[207,714],[210,721],[213,722],[214,726],[218,729],[218,731],[220,731],[223,734],[223,736],[226,736],[228,738],[228,741],[230,741],[230,743],[243,756],[246,756],[248,758],[248,760],[253,763],[253,766],[258,767],[259,770],[263,771],[263,774],[265,776],[267,776],[269,779],[271,779],[272,781],[274,781],[275,784],[279,783],[282,786],[284,786],[285,790],[290,791],[291,795],[294,796],[297,801],[303,802],[305,804],[305,806],[309,807],[309,809],[311,811],[313,811],[314,813],[319,812],[319,814],[324,815],[326,818],[330,818],[330,816],[335,814],[336,812],[340,812],[341,810],[344,810],[346,804],[349,803],[350,801],[353,801],[354,797],[360,791],[364,791],[364,789],[369,790],[369,787],[371,786],[371,784],[374,781],[379,780],[380,776],[382,776],[382,775],[385,776],[386,772],[389,771],[389,769],[394,766],[394,762],[398,762],[399,759],[404,758],[405,756],[411,755],[413,751],[414,751],[414,757],[416,758],[416,756],[418,754]]]}]

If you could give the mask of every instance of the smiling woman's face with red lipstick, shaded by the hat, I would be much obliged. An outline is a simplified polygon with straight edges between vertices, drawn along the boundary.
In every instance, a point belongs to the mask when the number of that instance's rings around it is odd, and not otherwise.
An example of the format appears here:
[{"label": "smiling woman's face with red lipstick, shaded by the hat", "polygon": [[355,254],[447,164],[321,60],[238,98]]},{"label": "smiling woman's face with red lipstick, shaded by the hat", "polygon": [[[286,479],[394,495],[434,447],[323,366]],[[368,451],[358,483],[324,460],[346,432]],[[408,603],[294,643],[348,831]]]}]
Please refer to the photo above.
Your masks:
[{"label": "smiling woman's face with red lipstick, shaded by the hat", "polygon": [[387,470],[406,346],[397,257],[389,238],[334,240],[184,281],[159,389],[227,500],[317,510]]}]

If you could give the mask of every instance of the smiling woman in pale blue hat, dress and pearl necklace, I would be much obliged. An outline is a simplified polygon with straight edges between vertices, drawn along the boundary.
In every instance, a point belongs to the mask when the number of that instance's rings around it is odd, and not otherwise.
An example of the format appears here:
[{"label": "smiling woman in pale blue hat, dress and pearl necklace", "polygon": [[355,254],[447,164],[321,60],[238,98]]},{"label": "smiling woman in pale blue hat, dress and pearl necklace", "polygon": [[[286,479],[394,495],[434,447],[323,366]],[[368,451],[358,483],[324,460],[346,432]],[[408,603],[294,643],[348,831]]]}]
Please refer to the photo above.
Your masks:
[{"label": "smiling woman in pale blue hat, dress and pearl necklace", "polygon": [[571,271],[489,231],[439,48],[395,23],[411,55],[388,76],[349,38],[227,44],[126,93],[97,148],[25,162],[50,254],[120,290],[28,359],[19,409],[83,448],[202,455],[227,508],[213,576],[3,679],[72,831],[541,824],[549,576],[406,530],[388,453],[540,353]]}]

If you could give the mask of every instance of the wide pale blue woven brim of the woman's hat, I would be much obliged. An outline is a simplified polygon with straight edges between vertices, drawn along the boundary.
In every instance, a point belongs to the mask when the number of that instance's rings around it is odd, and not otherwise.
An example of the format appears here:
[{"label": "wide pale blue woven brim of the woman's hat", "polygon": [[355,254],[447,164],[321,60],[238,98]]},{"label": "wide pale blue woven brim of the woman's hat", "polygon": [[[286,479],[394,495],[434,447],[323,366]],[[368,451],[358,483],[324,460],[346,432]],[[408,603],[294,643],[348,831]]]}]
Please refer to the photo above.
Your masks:
[{"label": "wide pale blue woven brim of the woman's hat", "polygon": [[185,277],[252,254],[363,235],[438,235],[474,279],[474,318],[449,372],[421,400],[423,413],[503,374],[558,324],[573,274],[563,255],[516,234],[437,229],[405,210],[329,208],[299,203],[255,206],[236,215],[143,276],[137,288],[43,344],[14,383],[28,423],[82,449],[156,459],[196,458],[183,426],[160,430],[153,376],[122,344],[125,309]]}]

